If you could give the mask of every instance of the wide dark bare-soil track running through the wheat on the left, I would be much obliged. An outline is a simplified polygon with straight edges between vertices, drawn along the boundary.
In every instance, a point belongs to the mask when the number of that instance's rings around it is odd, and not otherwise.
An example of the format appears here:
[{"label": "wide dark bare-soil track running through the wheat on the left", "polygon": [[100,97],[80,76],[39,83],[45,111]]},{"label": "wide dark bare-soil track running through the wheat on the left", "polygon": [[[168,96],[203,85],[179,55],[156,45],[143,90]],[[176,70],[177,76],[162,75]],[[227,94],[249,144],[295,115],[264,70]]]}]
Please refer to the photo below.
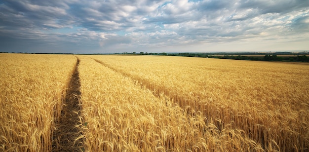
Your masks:
[{"label": "wide dark bare-soil track running through the wheat on the left", "polygon": [[80,82],[78,72],[79,59],[68,82],[68,90],[63,99],[60,118],[55,120],[52,152],[84,151],[83,134],[81,130]]}]

